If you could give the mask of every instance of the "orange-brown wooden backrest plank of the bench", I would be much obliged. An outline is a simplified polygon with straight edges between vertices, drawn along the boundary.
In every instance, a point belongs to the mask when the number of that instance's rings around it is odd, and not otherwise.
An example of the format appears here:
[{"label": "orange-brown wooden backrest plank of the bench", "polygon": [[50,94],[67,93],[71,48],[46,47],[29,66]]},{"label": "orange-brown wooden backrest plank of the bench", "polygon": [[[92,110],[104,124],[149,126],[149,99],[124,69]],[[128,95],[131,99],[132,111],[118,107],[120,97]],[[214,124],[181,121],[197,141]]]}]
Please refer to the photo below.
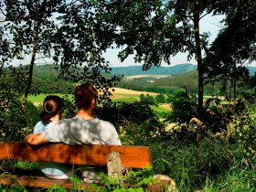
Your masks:
[{"label": "orange-brown wooden backrest plank of the bench", "polygon": [[41,144],[32,147],[26,143],[10,142],[0,143],[0,149],[0,159],[107,165],[108,155],[118,152],[124,166],[144,168],[152,165],[148,146]]}]

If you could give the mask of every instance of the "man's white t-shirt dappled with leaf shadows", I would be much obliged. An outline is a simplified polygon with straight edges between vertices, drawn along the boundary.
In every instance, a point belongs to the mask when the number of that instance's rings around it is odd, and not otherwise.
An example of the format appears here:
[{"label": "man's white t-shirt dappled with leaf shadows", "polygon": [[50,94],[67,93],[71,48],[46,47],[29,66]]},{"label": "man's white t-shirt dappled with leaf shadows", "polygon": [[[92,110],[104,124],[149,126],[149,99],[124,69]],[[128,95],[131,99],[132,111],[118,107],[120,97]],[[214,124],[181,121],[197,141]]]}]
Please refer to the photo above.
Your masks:
[{"label": "man's white t-shirt dappled with leaf shadows", "polygon": [[50,126],[43,135],[48,142],[122,145],[112,123],[98,118],[84,120],[75,116],[63,119]]}]

